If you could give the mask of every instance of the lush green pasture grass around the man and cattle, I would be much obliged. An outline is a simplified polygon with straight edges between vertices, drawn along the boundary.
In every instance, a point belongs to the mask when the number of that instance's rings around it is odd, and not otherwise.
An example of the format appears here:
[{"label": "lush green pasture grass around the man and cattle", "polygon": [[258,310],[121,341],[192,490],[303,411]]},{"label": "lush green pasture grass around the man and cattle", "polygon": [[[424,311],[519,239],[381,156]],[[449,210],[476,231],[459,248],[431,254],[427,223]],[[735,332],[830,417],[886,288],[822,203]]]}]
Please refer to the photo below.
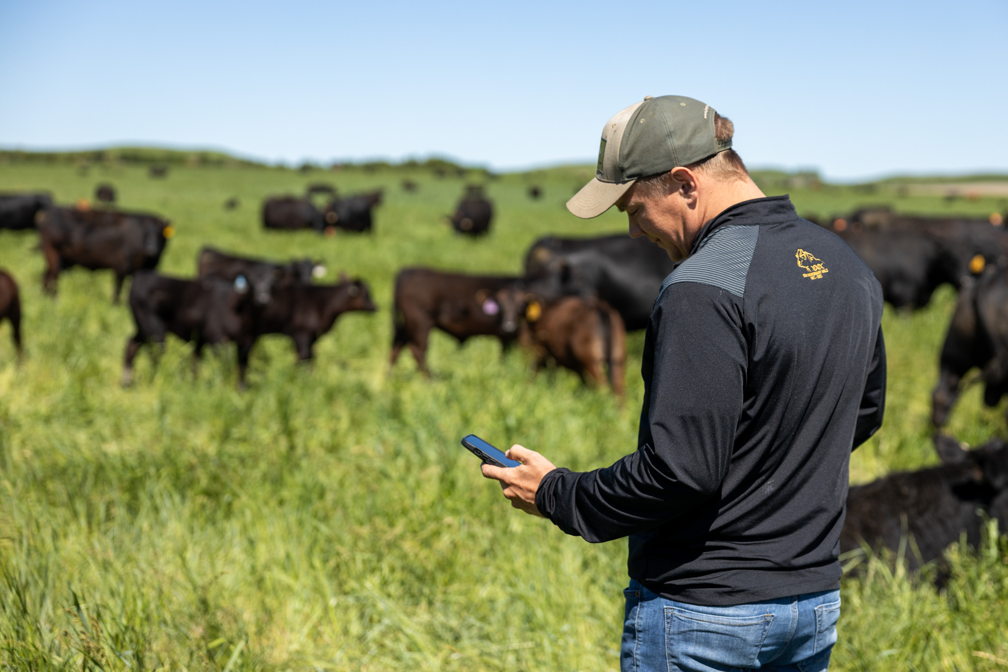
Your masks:
[{"label": "lush green pasture grass around the man and cattle", "polygon": [[[583,172],[583,171],[582,171]],[[112,305],[108,272],[74,270],[59,295],[39,288],[33,233],[0,232],[0,268],[18,280],[26,358],[0,326],[0,668],[9,670],[610,670],[619,667],[625,541],[590,545],[510,509],[459,438],[520,442],[572,468],[634,449],[642,334],[629,340],[628,398],[568,372],[529,372],[494,340],[464,348],[435,334],[433,380],[408,355],[387,376],[397,269],[518,272],[546,233],[622,231],[616,213],[582,222],[562,208],[579,169],[505,175],[488,185],[498,216],[483,240],[442,222],[464,181],[399,171],[303,174],[266,168],[0,165],[0,190],[44,188],[60,203],[119,189],[120,206],[162,214],[177,235],[161,262],[192,276],[197,251],[325,260],[371,285],[376,314],[349,314],[309,366],[267,338],[250,387],[235,388],[233,351],[194,379],[171,341],[156,370],[138,359],[118,385],[132,319]],[[545,195],[526,197],[530,179]],[[372,236],[267,233],[259,204],[333,181],[384,185]],[[241,207],[222,208],[232,195]],[[885,199],[852,188],[792,194],[828,215]],[[916,212],[987,216],[993,198],[896,200]],[[883,429],[852,459],[864,482],[935,462],[928,426],[937,353],[955,301],[887,307],[889,394]],[[970,390],[951,431],[977,443],[1008,435],[1004,407]],[[937,592],[879,559],[844,582],[838,670],[1008,668],[1008,542],[953,549]]]}]

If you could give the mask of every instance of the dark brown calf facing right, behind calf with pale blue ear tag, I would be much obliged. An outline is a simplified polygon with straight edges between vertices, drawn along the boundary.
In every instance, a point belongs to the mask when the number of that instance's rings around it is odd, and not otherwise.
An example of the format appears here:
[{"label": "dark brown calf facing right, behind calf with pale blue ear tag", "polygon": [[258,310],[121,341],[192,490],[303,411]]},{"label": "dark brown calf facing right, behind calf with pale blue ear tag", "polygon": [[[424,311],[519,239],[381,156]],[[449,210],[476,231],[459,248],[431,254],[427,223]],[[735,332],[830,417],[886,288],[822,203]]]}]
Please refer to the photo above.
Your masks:
[{"label": "dark brown calf facing right, behind calf with pale blue ear tag", "polygon": [[284,333],[293,340],[297,359],[309,360],[316,341],[333,328],[337,317],[377,309],[367,283],[357,278],[343,276],[335,285],[280,283],[273,288],[273,300],[256,310],[255,335]]}]

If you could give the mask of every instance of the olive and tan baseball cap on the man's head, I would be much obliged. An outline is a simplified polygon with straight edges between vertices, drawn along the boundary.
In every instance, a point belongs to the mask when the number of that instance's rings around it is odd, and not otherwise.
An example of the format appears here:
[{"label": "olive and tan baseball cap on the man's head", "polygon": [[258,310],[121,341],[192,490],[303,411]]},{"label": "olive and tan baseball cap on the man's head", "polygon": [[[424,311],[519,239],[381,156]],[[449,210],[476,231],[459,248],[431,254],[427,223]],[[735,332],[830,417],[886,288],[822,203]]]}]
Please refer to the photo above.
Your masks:
[{"label": "olive and tan baseball cap on the man's head", "polygon": [[586,220],[598,217],[638,177],[730,149],[731,140],[714,135],[714,108],[685,96],[647,96],[620,110],[602,129],[595,178],[568,200],[568,210]]}]

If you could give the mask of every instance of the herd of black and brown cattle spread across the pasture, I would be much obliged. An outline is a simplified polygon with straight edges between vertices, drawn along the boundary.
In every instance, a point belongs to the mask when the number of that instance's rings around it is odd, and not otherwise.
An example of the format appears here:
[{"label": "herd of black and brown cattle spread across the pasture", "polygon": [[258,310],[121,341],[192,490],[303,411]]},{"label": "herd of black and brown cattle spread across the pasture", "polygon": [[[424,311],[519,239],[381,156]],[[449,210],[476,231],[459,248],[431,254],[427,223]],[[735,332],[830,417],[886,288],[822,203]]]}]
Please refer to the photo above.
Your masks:
[{"label": "herd of black and brown cattle spread across the pasture", "polygon": [[[267,198],[263,225],[327,234],[333,228],[373,230],[372,211],[381,203],[381,191],[347,198],[329,191],[332,198],[321,209],[309,188],[303,197]],[[470,188],[450,219],[456,231],[478,236],[488,231],[492,217],[482,190]],[[947,422],[957,396],[970,384],[966,375],[972,369],[980,371],[976,380],[986,386],[986,403],[995,405],[1008,393],[1008,231],[1000,216],[939,219],[874,209],[816,224],[851,245],[896,307],[926,305],[943,283],[959,290],[932,395],[935,427]],[[152,351],[156,359],[168,332],[194,344],[194,367],[204,346],[234,343],[238,384],[244,387],[249,355],[260,335],[286,334],[298,359],[307,360],[316,341],[341,314],[377,309],[367,283],[359,278],[317,283],[326,269],[310,259],[269,261],[204,247],[196,279],[160,275],[155,269],[173,229],[151,215],[83,204],[64,208],[42,194],[4,195],[0,229],[37,230],[45,260],[42,287],[48,293],[55,293],[59,273],[73,266],[111,269],[114,300],[125,277],[133,277],[129,307],[136,330],[126,346],[124,385],[132,382],[138,351],[157,345]],[[390,367],[405,347],[429,375],[426,351],[433,328],[460,344],[491,335],[502,351],[515,344],[529,349],[536,370],[553,362],[586,382],[608,383],[621,398],[626,332],[647,325],[661,281],[674,267],[645,239],[613,235],[541,238],[527,250],[520,275],[404,268],[394,283]],[[14,326],[20,354],[17,285],[0,271],[4,317]],[[856,550],[866,540],[895,550],[909,533],[916,544],[911,564],[936,560],[961,533],[971,543],[980,539],[978,510],[1008,531],[1008,444],[993,440],[964,450],[955,439],[936,434],[935,448],[939,466],[851,489],[843,551]]]}]

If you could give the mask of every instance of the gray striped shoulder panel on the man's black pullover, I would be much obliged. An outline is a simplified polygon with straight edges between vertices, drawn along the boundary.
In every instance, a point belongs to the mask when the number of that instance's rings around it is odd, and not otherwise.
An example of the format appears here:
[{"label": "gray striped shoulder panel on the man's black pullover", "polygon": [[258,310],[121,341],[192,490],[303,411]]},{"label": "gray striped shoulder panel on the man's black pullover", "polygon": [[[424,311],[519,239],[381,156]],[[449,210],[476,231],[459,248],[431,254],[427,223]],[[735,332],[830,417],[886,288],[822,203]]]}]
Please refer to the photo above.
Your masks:
[{"label": "gray striped shoulder panel on the man's black pullover", "polygon": [[655,304],[668,285],[676,282],[714,285],[742,297],[758,238],[759,227],[753,225],[723,227],[714,232],[691,257],[668,274],[654,299]]}]

